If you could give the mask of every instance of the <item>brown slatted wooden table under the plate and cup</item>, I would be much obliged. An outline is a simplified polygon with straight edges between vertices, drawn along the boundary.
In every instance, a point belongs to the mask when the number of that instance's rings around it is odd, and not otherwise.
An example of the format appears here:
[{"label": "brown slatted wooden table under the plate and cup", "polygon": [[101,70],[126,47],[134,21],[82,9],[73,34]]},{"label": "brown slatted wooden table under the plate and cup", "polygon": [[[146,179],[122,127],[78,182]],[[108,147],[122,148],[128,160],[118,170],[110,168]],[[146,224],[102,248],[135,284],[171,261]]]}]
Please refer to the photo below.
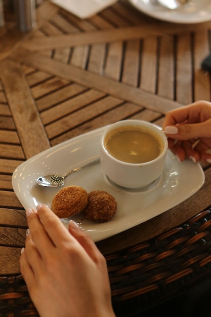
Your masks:
[{"label": "brown slatted wooden table under the plate and cup", "polygon": [[[193,25],[150,18],[126,0],[80,20],[48,0],[37,28],[21,33],[5,8],[0,29],[0,275],[20,274],[25,210],[12,188],[17,166],[51,146],[127,118],[162,126],[166,111],[210,101],[211,21]],[[109,257],[180,227],[211,205],[211,168],[182,204],[97,243]],[[122,251],[123,252],[123,251]],[[1,293],[0,293],[1,294]],[[0,295],[1,299],[1,295]]]}]

